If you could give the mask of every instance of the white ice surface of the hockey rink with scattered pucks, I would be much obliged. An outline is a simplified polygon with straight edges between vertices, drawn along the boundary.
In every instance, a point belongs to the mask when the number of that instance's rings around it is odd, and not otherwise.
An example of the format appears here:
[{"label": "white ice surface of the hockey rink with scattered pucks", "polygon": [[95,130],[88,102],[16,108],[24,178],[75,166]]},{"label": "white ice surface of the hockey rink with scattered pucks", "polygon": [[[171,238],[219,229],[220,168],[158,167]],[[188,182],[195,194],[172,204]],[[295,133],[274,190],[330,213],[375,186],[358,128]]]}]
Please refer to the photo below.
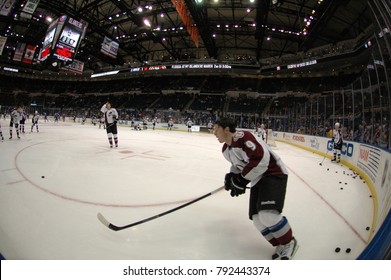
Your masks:
[{"label": "white ice surface of the hockey rink with scattered pucks", "polygon": [[[274,252],[248,219],[248,193],[222,190],[122,231],[223,185],[229,163],[211,134],[40,123],[40,132],[0,142],[0,252],[7,259],[270,259]],[[284,215],[295,259],[355,259],[366,247],[373,201],[367,185],[328,159],[277,143],[290,175]],[[328,169],[328,170],[327,170]],[[44,178],[42,177],[44,176]],[[343,188],[343,189],[341,189]],[[336,247],[341,252],[336,253]],[[345,250],[351,248],[350,253]]]}]

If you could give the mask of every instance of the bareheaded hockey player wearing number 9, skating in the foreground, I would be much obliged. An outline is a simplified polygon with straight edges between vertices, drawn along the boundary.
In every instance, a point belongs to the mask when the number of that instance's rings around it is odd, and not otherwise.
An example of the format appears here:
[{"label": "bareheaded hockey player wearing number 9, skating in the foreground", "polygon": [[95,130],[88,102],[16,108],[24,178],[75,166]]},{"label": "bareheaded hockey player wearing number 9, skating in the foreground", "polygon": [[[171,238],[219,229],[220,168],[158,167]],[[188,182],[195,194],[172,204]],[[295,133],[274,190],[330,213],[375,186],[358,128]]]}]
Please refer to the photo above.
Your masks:
[{"label": "bareheaded hockey player wearing number 9, skating in the foreground", "polygon": [[274,246],[272,259],[290,260],[297,250],[288,219],[282,215],[288,171],[269,146],[250,131],[236,131],[235,122],[221,118],[214,135],[223,145],[223,155],[232,164],[224,185],[232,197],[244,194],[251,182],[249,218]]}]

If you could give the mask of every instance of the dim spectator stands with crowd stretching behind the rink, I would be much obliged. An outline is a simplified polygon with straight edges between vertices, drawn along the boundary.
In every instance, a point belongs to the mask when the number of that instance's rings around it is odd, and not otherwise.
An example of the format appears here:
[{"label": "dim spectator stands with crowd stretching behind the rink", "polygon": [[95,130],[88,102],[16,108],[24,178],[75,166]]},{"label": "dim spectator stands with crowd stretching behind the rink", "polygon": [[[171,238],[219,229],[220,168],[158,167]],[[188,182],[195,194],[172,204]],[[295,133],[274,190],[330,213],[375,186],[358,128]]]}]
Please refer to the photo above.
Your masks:
[{"label": "dim spectator stands with crowd stretching behind the rink", "polygon": [[[5,81],[0,76],[1,79]],[[181,78],[168,81],[147,78],[123,84],[21,83],[10,79],[0,89],[0,113],[7,114],[14,106],[23,104],[28,113],[38,110],[51,116],[58,113],[71,118],[100,118],[100,107],[110,101],[120,119],[126,121],[150,122],[156,118],[159,122],[172,120],[184,124],[190,118],[194,124],[206,126],[210,120],[228,115],[242,128],[254,129],[259,123],[265,123],[273,130],[319,136],[328,136],[338,121],[346,140],[390,148],[389,102],[381,99],[379,89],[373,91],[370,100],[366,94],[363,98],[333,93],[309,98],[299,94],[254,94],[259,81],[253,79],[243,83],[243,80],[228,82],[218,77],[199,77],[195,81],[187,84]],[[168,90],[163,83],[176,90]],[[159,84],[167,92],[158,91]],[[232,92],[236,94],[229,94]]]}]

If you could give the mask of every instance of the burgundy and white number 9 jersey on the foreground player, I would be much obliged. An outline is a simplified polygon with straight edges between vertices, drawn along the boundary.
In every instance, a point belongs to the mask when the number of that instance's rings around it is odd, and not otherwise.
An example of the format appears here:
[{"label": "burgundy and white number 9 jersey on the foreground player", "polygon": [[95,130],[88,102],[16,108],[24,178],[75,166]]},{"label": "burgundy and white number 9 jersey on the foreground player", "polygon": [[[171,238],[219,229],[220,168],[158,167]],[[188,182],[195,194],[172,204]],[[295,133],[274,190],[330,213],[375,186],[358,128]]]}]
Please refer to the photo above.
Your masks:
[{"label": "burgundy and white number 9 jersey on the foreground player", "polygon": [[250,131],[237,131],[232,144],[223,145],[224,157],[232,163],[231,172],[255,185],[263,176],[288,174],[280,157]]}]

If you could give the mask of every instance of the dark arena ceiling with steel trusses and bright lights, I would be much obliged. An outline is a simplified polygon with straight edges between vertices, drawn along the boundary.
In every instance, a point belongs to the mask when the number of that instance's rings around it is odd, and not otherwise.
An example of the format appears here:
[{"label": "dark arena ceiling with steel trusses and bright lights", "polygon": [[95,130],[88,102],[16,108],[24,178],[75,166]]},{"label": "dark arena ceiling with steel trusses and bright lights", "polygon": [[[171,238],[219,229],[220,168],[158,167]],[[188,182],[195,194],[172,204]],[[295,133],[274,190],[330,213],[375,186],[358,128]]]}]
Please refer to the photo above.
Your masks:
[{"label": "dark arena ceiling with steel trusses and bright lights", "polygon": [[[12,13],[0,16],[7,46],[42,46],[47,18],[68,15],[88,23],[75,58],[93,70],[152,60],[256,63],[356,38],[372,23],[367,0],[182,0],[197,47],[172,0],[40,0],[31,19],[20,17],[26,0],[15,1]],[[104,37],[119,43],[117,58],[101,53]]]}]

